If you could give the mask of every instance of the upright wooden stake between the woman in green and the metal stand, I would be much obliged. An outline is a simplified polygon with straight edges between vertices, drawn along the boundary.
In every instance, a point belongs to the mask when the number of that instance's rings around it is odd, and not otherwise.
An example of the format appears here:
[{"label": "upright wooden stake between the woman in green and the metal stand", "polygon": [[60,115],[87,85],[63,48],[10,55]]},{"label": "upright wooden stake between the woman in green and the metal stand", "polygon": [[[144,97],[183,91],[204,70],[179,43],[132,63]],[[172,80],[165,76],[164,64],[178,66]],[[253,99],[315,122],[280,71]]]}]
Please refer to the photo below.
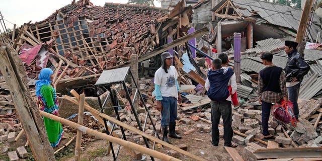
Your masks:
[{"label": "upright wooden stake between the woman in green and the metal stand", "polygon": [[[85,107],[85,94],[81,94],[79,98],[79,106],[78,106],[78,121],[79,125],[83,125],[84,119],[84,107]],[[76,135],[76,145],[75,145],[75,161],[81,159],[81,143],[82,143],[82,131],[77,130]]]}]

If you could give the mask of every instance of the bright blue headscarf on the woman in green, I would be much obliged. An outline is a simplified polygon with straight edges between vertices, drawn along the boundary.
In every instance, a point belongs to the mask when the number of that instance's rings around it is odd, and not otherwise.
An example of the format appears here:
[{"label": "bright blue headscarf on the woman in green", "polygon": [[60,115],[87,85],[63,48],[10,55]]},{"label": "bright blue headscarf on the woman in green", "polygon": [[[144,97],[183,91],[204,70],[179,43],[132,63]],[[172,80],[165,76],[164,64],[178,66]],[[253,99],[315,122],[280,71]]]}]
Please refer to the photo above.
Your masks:
[{"label": "bright blue headscarf on the woman in green", "polygon": [[39,73],[39,81],[36,81],[36,96],[39,97],[42,86],[50,85],[50,75],[54,73],[50,68],[43,68]]}]

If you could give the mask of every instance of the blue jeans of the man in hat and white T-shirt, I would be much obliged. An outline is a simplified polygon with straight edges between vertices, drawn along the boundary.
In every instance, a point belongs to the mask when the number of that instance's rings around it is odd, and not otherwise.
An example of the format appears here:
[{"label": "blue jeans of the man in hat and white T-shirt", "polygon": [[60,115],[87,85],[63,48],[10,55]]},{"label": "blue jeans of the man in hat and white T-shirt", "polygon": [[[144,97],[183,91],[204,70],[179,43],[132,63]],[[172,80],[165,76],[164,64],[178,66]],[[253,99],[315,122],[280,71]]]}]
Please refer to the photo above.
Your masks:
[{"label": "blue jeans of the man in hat and white T-shirt", "polygon": [[161,125],[168,126],[169,122],[176,122],[177,120],[177,98],[175,97],[162,97],[162,112],[161,112]]}]

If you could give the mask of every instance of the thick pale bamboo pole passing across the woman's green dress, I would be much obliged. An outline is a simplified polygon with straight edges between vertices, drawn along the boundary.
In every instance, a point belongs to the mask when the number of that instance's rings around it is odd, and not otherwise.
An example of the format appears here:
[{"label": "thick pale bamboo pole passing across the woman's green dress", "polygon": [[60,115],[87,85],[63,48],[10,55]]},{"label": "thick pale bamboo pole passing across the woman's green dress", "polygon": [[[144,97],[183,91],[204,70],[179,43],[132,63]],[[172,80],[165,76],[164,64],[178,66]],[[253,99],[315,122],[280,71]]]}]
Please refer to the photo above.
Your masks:
[{"label": "thick pale bamboo pole passing across the woman's green dress", "polygon": [[116,138],[116,137],[113,137],[113,136],[98,132],[96,130],[93,130],[93,129],[90,129],[88,127],[85,127],[85,126],[76,124],[74,122],[71,122],[69,120],[66,120],[64,118],[60,118],[58,116],[55,116],[55,115],[52,115],[52,114],[49,114],[49,113],[46,113],[46,112],[43,112],[43,111],[39,111],[39,112],[40,112],[41,116],[47,117],[47,118],[52,119],[54,121],[58,121],[58,122],[60,122],[62,124],[68,125],[68,126],[70,126],[72,128],[75,128],[75,129],[77,129],[79,131],[82,131],[82,132],[84,132],[86,134],[89,134],[89,135],[92,135],[92,136],[95,136],[97,138],[104,139],[104,140],[107,140],[107,141],[111,141],[113,143],[122,145],[124,147],[129,147],[129,148],[131,148],[133,150],[139,151],[141,153],[148,154],[148,155],[153,156],[155,158],[159,158],[159,159],[162,159],[162,160],[170,160],[170,161],[172,161],[172,160],[178,160],[179,161],[180,160],[180,159],[174,158],[172,156],[166,155],[164,153],[154,151],[154,150],[149,149],[147,147],[135,144],[133,142],[125,141],[125,140],[122,140],[120,138]]}]

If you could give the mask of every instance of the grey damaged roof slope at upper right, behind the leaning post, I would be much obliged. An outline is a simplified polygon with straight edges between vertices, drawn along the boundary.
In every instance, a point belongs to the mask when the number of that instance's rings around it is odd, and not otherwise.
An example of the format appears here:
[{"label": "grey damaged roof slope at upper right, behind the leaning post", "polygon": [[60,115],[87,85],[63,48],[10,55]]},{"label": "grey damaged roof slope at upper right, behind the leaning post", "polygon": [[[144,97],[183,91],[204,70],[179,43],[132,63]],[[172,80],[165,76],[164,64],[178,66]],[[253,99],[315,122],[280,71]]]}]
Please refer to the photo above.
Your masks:
[{"label": "grey damaged roof slope at upper right, behind the leaning post", "polygon": [[[222,7],[227,0],[221,1],[212,11]],[[234,5],[234,9],[243,17],[262,18],[267,23],[285,27],[297,31],[302,10],[280,4],[273,4],[258,0],[228,0]],[[224,15],[223,15],[224,16]],[[229,17],[227,17],[229,18]],[[321,32],[321,22],[314,14],[309,32],[311,39],[316,39],[317,33]],[[321,37],[321,36],[320,36]],[[322,38],[322,37],[321,37]]]}]

